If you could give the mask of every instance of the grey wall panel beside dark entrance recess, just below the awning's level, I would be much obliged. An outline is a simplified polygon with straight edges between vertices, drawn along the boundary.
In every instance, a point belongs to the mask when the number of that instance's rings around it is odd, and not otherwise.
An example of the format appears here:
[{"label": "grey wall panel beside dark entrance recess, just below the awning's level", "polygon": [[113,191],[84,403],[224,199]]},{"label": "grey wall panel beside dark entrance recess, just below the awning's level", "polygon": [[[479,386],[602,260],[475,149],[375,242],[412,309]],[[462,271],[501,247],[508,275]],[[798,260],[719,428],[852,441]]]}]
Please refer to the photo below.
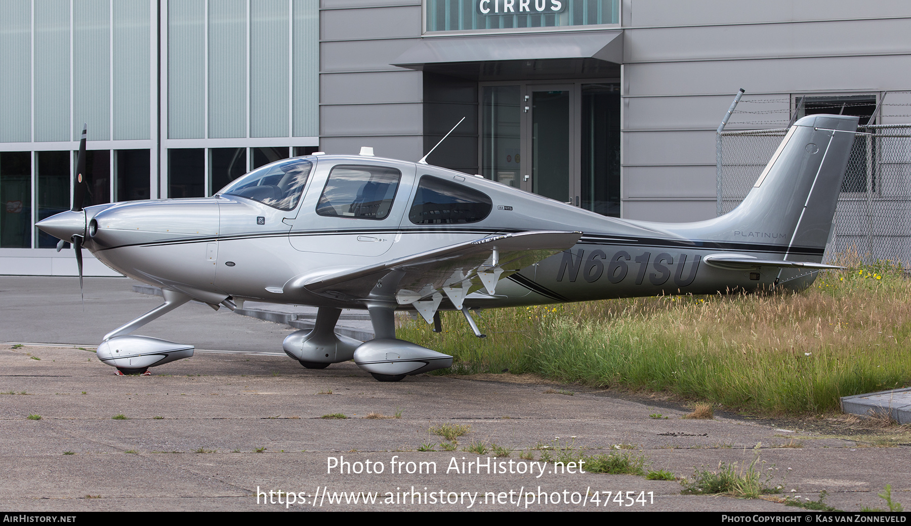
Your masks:
[{"label": "grey wall panel beside dark entrance recess, just below the awning's level", "polygon": [[421,102],[420,71],[340,73],[320,77],[322,104]]}]

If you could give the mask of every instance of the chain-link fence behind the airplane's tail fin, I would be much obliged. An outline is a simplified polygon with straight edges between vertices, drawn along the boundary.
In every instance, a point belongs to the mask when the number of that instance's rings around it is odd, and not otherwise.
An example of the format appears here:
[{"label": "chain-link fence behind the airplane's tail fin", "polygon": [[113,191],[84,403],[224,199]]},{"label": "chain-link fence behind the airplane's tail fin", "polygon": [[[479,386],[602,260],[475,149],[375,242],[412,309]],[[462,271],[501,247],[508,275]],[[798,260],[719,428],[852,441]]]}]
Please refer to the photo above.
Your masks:
[{"label": "chain-link fence behind the airplane's tail fin", "polygon": [[[911,264],[911,125],[858,126],[835,210],[826,258],[856,251],[867,262]],[[787,128],[722,131],[718,136],[719,214],[740,204]]]}]

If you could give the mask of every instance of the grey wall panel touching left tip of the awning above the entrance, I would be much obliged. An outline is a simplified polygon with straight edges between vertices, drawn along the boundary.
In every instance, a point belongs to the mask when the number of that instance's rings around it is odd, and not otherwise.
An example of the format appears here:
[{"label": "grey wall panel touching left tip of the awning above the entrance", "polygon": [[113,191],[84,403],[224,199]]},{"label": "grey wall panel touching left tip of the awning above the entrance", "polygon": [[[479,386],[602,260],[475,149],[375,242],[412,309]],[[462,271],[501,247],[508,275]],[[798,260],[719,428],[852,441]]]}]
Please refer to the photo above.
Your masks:
[{"label": "grey wall panel touching left tip of the awning above the entrance", "polygon": [[389,64],[414,45],[414,38],[323,42],[320,45],[321,72],[401,71],[401,67],[389,66]]}]

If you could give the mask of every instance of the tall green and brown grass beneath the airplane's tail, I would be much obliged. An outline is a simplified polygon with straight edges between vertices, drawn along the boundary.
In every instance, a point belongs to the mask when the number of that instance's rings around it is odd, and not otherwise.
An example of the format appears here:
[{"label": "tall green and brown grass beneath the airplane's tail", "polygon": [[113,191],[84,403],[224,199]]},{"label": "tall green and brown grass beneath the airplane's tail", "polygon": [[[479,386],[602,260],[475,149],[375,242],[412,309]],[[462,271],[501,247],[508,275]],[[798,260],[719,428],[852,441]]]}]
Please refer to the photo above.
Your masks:
[{"label": "tall green and brown grass beneath the airplane's tail", "polygon": [[461,314],[398,337],[455,357],[443,373],[534,372],[763,413],[822,412],[911,382],[911,281],[879,262],[801,293],[614,299]]}]

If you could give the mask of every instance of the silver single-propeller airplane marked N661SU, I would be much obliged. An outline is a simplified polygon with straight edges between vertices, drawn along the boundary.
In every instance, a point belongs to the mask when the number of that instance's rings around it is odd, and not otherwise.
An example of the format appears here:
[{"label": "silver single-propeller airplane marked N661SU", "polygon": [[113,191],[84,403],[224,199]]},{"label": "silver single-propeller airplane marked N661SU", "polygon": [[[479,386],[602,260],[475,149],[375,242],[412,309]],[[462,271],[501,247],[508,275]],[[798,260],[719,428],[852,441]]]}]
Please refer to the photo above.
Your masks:
[{"label": "silver single-propeller airplane marked N661SU", "polygon": [[[440,329],[439,310],[660,294],[803,289],[819,270],[857,117],[797,121],[740,206],[692,223],[603,217],[480,176],[374,157],[314,154],[239,177],[213,197],[79,206],[37,223],[108,267],[162,289],[164,303],[109,332],[99,359],[119,374],[187,358],[193,346],[131,335],[196,299],[318,307],[282,348],[310,369],[353,359],[380,381],[449,367],[395,339],[394,313]],[[428,154],[429,155],[429,154]],[[426,158],[426,157],[425,157]],[[375,338],[335,334],[341,309],[366,309]]]}]

